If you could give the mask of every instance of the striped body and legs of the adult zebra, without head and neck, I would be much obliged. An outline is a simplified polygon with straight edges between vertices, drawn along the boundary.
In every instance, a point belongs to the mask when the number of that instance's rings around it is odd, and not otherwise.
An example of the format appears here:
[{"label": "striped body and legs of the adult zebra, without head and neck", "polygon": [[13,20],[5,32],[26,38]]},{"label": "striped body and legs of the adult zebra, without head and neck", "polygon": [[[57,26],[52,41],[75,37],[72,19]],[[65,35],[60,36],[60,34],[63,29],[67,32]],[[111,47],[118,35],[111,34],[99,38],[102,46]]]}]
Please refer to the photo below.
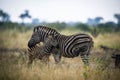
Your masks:
[{"label": "striped body and legs of the adult zebra, without head and neck", "polygon": [[[89,54],[93,47],[93,40],[89,35],[80,33],[70,36],[61,34],[51,36],[52,37],[46,40],[44,45],[51,43],[53,47],[58,49],[58,51],[54,53],[55,61],[59,62],[61,60],[61,56],[73,58],[80,55],[84,64],[89,65]],[[51,52],[50,50],[52,50],[51,48],[47,48],[46,45],[44,51],[49,54]]]}]

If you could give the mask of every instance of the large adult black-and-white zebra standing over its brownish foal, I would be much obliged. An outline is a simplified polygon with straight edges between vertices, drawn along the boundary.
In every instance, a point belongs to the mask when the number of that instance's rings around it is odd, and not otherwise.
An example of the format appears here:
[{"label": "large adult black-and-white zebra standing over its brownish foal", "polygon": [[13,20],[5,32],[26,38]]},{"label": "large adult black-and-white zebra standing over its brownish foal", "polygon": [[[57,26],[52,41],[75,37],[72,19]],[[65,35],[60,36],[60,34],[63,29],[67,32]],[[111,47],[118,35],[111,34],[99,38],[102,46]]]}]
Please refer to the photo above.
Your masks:
[{"label": "large adult black-and-white zebra standing over its brownish foal", "polygon": [[[49,39],[46,40],[49,35],[54,36],[51,41],[49,41]],[[58,42],[59,45],[54,46],[55,40]],[[93,45],[92,38],[89,35],[76,34],[76,35],[71,35],[71,36],[65,36],[65,35],[61,35],[60,33],[58,33],[55,29],[48,28],[46,26],[37,26],[34,28],[33,34],[31,36],[30,40],[28,41],[28,47],[32,48],[39,42],[47,43],[47,41],[48,41],[48,43],[53,42],[52,46],[48,48],[49,51],[46,47],[44,48],[44,50],[46,51],[47,54],[50,54],[51,50],[54,50],[55,47],[58,49],[58,51],[55,52],[53,55],[56,62],[60,61],[61,55],[64,57],[76,57],[80,54],[82,61],[85,64],[88,63],[87,57],[89,57],[88,55],[90,52],[90,48]],[[74,47],[74,49],[68,48],[69,45],[71,45],[71,44],[74,44],[74,46],[76,46],[76,47]],[[48,45],[46,45],[46,46],[48,46]],[[70,52],[68,52],[69,49],[74,51],[73,52],[74,54],[71,54]],[[86,53],[83,53],[85,51],[86,51]],[[82,52],[82,53],[80,53],[80,52]]]}]

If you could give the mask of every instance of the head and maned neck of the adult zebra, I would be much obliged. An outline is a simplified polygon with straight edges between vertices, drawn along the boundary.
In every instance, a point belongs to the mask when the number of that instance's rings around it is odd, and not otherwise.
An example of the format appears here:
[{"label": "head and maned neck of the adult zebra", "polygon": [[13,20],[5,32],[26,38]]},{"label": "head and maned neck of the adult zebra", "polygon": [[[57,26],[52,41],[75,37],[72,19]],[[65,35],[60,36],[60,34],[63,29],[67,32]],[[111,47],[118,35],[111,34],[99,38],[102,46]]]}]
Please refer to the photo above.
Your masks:
[{"label": "head and maned neck of the adult zebra", "polygon": [[36,44],[45,41],[45,39],[50,35],[57,35],[59,34],[55,29],[46,27],[46,26],[36,26],[34,27],[33,34],[28,41],[28,47],[32,48]]}]

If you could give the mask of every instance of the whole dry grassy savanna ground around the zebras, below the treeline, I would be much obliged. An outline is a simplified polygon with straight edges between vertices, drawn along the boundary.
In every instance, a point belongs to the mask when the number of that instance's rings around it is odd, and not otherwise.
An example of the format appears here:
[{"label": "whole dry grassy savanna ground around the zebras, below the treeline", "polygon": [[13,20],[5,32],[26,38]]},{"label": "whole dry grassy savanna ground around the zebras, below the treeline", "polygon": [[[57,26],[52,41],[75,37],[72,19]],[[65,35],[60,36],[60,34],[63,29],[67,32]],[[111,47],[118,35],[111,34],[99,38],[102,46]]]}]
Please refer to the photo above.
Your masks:
[{"label": "whole dry grassy savanna ground around the zebras, below the treeline", "polygon": [[[71,35],[81,32],[77,29],[64,29],[60,33]],[[0,30],[0,80],[120,80],[120,70],[115,69],[112,51],[104,51],[104,45],[120,49],[120,33],[99,34],[94,39],[90,66],[85,67],[80,59],[62,58],[55,64],[50,57],[49,65],[35,60],[27,64],[27,42],[32,29],[20,31],[17,28]],[[88,33],[90,34],[90,33]],[[120,53],[120,52],[118,52]]]}]

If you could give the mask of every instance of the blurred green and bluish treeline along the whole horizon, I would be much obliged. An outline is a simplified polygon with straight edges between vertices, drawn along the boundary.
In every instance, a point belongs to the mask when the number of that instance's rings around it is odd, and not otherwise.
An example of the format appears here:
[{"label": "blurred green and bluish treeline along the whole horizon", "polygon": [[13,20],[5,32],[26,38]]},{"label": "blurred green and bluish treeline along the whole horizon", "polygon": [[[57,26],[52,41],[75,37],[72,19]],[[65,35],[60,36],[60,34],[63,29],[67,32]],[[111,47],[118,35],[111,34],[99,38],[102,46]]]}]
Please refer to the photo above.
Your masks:
[{"label": "blurred green and bluish treeline along the whole horizon", "polygon": [[[18,17],[21,19],[22,23],[12,22],[10,20],[10,15],[3,10],[0,10],[0,28],[1,29],[19,29],[29,30],[37,25],[46,25],[48,27],[52,27],[57,29],[58,31],[64,29],[77,29],[85,32],[90,32],[93,36],[97,36],[99,33],[106,32],[119,32],[120,31],[120,14],[114,14],[114,18],[116,18],[117,23],[113,21],[102,22],[104,20],[101,16],[96,16],[94,19],[88,18],[86,23],[82,22],[40,22],[39,19],[33,18],[32,15],[29,14],[29,10],[25,10],[24,13],[18,14]],[[31,23],[25,23],[26,18],[31,20]]]}]

